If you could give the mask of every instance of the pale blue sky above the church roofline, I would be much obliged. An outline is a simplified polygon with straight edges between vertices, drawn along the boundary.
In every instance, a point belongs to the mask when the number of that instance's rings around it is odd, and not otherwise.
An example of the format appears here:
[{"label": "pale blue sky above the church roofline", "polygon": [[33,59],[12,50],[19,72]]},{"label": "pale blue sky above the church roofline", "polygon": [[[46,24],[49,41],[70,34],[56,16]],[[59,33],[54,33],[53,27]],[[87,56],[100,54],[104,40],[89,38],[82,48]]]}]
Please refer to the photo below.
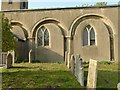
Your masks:
[{"label": "pale blue sky above the church roofline", "polygon": [[[28,0],[29,9],[37,8],[59,8],[76,7],[84,4],[95,4],[96,2],[107,2],[108,5],[118,4],[119,0]],[[0,0],[1,2],[1,0]],[[1,7],[1,5],[0,5]]]}]

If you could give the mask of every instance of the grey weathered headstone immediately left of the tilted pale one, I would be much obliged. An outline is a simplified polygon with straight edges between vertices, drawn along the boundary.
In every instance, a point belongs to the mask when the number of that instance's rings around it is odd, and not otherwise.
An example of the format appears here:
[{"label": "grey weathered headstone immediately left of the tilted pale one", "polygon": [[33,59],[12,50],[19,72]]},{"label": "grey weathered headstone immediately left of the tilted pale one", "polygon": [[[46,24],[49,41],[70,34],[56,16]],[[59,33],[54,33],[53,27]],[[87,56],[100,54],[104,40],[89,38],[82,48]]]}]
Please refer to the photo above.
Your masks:
[{"label": "grey weathered headstone immediately left of the tilted pale one", "polygon": [[84,86],[84,70],[83,70],[83,61],[82,58],[78,60],[78,82],[81,86]]}]

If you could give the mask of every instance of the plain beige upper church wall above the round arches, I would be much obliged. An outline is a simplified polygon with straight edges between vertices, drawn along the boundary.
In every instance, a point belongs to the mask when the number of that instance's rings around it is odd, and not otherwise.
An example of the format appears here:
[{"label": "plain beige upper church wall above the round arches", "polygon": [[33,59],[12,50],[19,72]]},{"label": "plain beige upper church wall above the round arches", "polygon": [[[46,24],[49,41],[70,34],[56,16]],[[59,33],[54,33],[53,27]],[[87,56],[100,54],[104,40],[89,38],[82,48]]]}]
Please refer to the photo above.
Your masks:
[{"label": "plain beige upper church wall above the round arches", "polygon": [[[114,12],[114,13],[113,13]],[[13,12],[5,12],[9,19],[17,20],[22,22],[29,31],[32,30],[33,26],[40,20],[46,18],[53,18],[64,25],[69,30],[73,21],[83,15],[97,14],[107,17],[114,26],[117,26],[117,13],[118,8],[86,8],[86,9],[61,9],[61,10],[20,10]],[[28,23],[29,22],[29,23]],[[114,31],[114,30],[113,30]],[[116,32],[116,31],[114,31]]]}]

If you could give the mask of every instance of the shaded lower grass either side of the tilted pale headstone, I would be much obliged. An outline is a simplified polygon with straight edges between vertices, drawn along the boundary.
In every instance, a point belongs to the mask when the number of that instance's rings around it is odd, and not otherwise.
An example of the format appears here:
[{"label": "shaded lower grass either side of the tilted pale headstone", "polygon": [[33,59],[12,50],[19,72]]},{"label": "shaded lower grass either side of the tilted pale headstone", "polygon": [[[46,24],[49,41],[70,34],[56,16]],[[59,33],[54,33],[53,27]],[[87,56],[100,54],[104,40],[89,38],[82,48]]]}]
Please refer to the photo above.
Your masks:
[{"label": "shaded lower grass either side of the tilted pale headstone", "polygon": [[[87,75],[88,71],[84,72],[84,79],[85,79],[85,86],[87,86]],[[117,71],[104,71],[98,70],[97,72],[97,90],[104,89],[104,90],[117,90],[118,84],[118,72]]]}]

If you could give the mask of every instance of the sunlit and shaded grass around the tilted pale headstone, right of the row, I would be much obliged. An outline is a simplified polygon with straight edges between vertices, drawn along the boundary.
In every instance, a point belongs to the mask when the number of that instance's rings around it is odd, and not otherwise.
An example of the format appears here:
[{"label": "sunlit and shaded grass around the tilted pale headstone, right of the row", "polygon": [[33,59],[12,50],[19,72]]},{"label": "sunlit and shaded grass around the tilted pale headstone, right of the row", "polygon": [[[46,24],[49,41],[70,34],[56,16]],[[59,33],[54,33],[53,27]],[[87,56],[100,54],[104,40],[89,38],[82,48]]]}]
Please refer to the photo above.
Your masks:
[{"label": "sunlit and shaded grass around the tilted pale headstone, right of the row", "polygon": [[[118,64],[114,62],[98,62],[97,71],[97,88],[117,89],[118,79]],[[87,83],[88,63],[85,64],[85,81]],[[105,90],[106,90],[105,89]]]}]

